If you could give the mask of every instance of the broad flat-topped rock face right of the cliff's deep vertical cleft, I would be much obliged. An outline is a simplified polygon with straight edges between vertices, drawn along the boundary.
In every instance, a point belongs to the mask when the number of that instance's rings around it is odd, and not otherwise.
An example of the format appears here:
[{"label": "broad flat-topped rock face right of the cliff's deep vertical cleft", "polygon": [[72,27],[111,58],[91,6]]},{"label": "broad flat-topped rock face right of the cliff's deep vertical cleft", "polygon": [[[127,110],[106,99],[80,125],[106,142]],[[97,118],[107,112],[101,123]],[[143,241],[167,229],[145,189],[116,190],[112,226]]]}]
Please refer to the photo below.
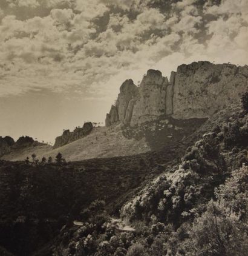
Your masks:
[{"label": "broad flat-topped rock face right of the cliff's deep vertical cleft", "polygon": [[248,87],[248,67],[207,61],[181,65],[174,78],[173,117],[207,118],[237,102]]}]

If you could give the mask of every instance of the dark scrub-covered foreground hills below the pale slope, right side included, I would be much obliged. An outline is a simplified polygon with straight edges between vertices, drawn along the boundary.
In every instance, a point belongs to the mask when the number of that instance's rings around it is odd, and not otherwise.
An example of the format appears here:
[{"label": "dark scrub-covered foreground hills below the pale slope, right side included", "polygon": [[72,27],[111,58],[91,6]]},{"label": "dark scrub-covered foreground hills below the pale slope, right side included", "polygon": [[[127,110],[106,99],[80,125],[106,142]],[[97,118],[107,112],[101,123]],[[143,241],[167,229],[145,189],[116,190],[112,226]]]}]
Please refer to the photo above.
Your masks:
[{"label": "dark scrub-covered foreground hills below the pale slope, right side included", "polygon": [[[3,253],[233,255],[238,247],[242,252],[247,232],[247,172],[240,168],[247,163],[247,123],[247,114],[235,105],[213,115],[180,143],[157,152],[63,165],[2,161]],[[238,174],[236,169],[240,169]],[[217,188],[221,192],[215,194]],[[225,215],[226,200],[233,204],[234,215]],[[122,232],[111,222],[110,216],[118,217],[119,210],[135,231]],[[75,226],[74,220],[82,221],[81,226]],[[216,228],[220,231],[215,232]],[[207,229],[209,234],[203,232]],[[234,249],[228,247],[227,229],[238,237],[232,242]],[[193,238],[201,254],[192,252],[188,241]],[[209,240],[210,245],[201,240]],[[237,255],[244,255],[241,252]]]}]

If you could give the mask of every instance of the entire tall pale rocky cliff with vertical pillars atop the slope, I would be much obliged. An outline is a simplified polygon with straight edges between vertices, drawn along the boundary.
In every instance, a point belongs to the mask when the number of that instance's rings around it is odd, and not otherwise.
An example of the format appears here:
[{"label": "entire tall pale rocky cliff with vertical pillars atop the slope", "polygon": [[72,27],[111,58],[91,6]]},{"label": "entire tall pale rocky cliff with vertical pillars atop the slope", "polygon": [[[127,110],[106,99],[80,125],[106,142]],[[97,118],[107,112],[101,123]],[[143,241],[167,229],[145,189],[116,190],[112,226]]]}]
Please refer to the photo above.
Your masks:
[{"label": "entire tall pale rocky cliff with vertical pillars atop the slope", "polygon": [[160,116],[208,118],[239,101],[247,88],[248,66],[193,62],[179,66],[169,81],[160,71],[148,70],[139,87],[131,79],[122,84],[106,126],[118,121],[135,126]]}]

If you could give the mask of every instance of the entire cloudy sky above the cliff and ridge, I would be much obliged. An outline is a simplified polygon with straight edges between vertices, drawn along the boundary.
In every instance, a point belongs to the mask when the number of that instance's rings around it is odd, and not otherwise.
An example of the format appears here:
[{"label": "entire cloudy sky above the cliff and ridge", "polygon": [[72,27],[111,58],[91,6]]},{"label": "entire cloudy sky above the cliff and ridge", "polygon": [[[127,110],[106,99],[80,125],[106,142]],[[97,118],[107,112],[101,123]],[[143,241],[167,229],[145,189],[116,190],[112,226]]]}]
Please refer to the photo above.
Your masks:
[{"label": "entire cloudy sky above the cliff and ridge", "polygon": [[125,79],[248,64],[247,0],[0,0],[0,135],[103,122]]}]

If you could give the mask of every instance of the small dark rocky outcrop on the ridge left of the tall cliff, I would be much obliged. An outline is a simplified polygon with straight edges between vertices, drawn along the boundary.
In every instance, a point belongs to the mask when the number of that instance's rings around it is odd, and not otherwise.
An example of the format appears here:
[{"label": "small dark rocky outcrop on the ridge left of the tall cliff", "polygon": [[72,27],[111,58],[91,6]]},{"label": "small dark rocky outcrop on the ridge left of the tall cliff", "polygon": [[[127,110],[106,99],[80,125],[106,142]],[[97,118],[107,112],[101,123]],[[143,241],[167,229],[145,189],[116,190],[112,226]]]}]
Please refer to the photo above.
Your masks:
[{"label": "small dark rocky outcrop on the ridge left of the tall cliff", "polygon": [[53,148],[56,149],[57,147],[64,146],[83,138],[84,136],[89,135],[92,130],[93,124],[91,122],[84,123],[83,127],[76,127],[73,132],[70,132],[70,130],[64,130],[63,134],[61,136],[57,136],[55,139]]}]

